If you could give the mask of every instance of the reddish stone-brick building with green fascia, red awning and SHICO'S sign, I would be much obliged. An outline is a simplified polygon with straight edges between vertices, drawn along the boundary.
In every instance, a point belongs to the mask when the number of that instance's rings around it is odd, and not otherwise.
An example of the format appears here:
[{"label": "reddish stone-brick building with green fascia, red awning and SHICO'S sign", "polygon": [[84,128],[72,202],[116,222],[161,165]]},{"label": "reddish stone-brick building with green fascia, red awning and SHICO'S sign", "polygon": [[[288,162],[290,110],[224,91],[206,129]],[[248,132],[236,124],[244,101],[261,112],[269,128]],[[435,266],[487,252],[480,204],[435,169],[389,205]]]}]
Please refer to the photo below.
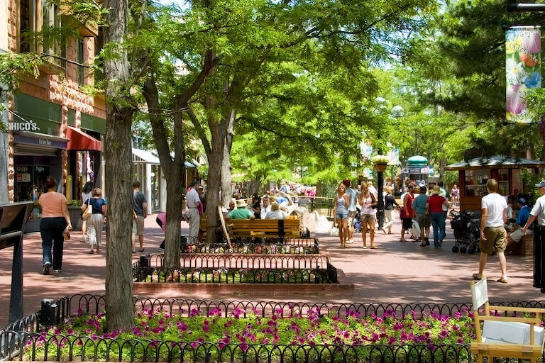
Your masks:
[{"label": "reddish stone-brick building with green fascia, red awning and SHICO'S sign", "polygon": [[[1,165],[0,155],[0,169],[7,171],[7,198],[37,198],[44,191],[45,177],[51,175],[68,199],[79,199],[85,182],[104,185],[104,96],[89,96],[82,91],[83,86],[94,83],[87,65],[101,48],[101,34],[96,26],[83,26],[78,37],[62,42],[29,40],[28,32],[59,26],[67,20],[60,7],[48,0],[1,2],[7,2],[7,9],[0,9],[0,26],[6,24],[7,32],[0,29],[0,48],[4,42],[9,52],[53,56],[40,67],[38,78],[22,78],[18,92],[9,96],[5,166]],[[4,12],[6,22],[1,21]],[[0,180],[0,185],[3,182]]]}]

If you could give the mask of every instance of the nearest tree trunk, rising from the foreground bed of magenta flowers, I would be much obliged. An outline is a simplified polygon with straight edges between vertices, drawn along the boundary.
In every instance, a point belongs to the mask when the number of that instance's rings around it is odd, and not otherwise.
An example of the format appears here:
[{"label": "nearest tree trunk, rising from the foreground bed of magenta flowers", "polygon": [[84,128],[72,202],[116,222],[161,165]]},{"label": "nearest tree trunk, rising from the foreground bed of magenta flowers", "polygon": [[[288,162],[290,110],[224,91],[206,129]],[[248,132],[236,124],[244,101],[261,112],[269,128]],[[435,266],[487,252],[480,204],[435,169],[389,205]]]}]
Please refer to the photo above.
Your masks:
[{"label": "nearest tree trunk, rising from the foreground bed of magenta flowers", "polygon": [[133,208],[131,122],[133,108],[116,106],[129,94],[129,65],[124,42],[127,35],[127,0],[105,0],[109,26],[104,40],[114,45],[116,57],[106,60],[106,138],[104,160],[108,218],[106,222],[106,329],[134,326],[131,228]]}]

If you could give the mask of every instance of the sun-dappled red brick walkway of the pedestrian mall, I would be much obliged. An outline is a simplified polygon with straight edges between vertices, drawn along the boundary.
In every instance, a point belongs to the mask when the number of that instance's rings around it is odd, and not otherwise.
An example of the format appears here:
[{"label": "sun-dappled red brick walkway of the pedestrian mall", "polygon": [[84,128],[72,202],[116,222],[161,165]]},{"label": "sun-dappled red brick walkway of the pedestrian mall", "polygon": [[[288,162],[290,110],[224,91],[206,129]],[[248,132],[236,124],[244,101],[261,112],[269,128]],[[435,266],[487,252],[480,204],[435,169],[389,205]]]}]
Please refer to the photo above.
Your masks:
[{"label": "sun-dappled red brick walkway of the pedestrian mall", "polygon": [[[448,225],[448,223],[447,223]],[[360,235],[350,247],[338,247],[338,238],[319,235],[321,251],[331,256],[331,262],[343,269],[355,284],[353,296],[328,298],[329,301],[358,302],[445,302],[470,301],[469,281],[477,272],[478,255],[451,252],[452,233],[441,249],[420,247],[419,242],[398,242],[397,233],[377,233],[378,250],[363,250]],[[182,234],[187,234],[187,223],[182,223]],[[155,217],[145,220],[145,252],[156,252],[163,235],[155,224]],[[72,294],[104,294],[105,255],[89,255],[87,244],[79,242],[79,233],[72,233],[72,240],[65,242],[62,262],[63,272],[44,277],[41,274],[41,240],[39,233],[25,236],[24,249],[24,310],[38,310],[43,298],[59,298]],[[103,236],[104,240],[104,236]],[[8,320],[9,286],[11,284],[11,248],[0,250],[0,326]],[[133,255],[134,259],[138,255]],[[541,300],[543,294],[532,287],[532,260],[507,257],[509,284],[495,282],[500,277],[497,257],[490,257],[486,273],[489,292],[493,301]],[[191,296],[196,297],[196,296]],[[199,296],[225,298],[228,296]],[[231,296],[238,299],[280,300],[271,296]],[[286,296],[289,301],[323,301],[320,296]]]}]

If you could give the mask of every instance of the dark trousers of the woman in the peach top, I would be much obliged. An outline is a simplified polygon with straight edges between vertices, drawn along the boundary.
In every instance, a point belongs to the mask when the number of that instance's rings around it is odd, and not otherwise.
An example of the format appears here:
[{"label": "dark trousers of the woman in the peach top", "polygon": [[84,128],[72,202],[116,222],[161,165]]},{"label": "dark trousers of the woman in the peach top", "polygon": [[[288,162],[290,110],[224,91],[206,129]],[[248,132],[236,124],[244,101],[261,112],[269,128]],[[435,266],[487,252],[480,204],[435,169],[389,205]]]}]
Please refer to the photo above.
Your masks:
[{"label": "dark trousers of the woman in the peach top", "polygon": [[[67,226],[64,217],[42,218],[40,220],[40,235],[42,236],[42,265],[45,262],[53,264],[53,269],[62,268],[62,248],[65,244],[65,237],[62,232]],[[51,249],[53,247],[53,261]]]}]

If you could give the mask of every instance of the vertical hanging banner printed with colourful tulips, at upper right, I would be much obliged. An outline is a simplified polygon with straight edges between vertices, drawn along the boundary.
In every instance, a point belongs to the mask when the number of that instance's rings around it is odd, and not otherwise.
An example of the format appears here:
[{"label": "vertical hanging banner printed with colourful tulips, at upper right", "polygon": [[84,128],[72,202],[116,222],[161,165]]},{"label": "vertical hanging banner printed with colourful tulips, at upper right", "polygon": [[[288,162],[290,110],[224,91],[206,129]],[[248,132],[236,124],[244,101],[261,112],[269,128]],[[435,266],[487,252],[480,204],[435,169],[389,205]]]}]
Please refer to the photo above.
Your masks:
[{"label": "vertical hanging banner printed with colourful tulips, at upper right", "polygon": [[507,121],[531,123],[524,97],[529,89],[541,88],[541,28],[512,27],[505,33]]}]

